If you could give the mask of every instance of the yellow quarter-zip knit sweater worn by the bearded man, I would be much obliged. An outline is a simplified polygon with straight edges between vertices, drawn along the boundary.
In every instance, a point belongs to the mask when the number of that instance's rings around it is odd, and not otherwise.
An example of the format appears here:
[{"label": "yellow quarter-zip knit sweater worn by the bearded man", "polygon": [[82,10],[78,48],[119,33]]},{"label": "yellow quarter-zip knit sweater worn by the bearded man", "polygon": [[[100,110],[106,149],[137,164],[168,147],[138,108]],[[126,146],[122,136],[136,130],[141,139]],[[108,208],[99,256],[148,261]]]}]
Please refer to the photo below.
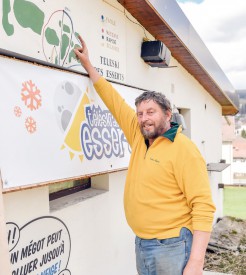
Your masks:
[{"label": "yellow quarter-zip knit sweater worn by the bearded man", "polygon": [[94,87],[132,149],[124,207],[134,233],[164,239],[177,237],[182,227],[211,231],[215,206],[206,164],[195,144],[179,128],[173,142],[161,136],[147,149],[135,111],[104,78]]}]

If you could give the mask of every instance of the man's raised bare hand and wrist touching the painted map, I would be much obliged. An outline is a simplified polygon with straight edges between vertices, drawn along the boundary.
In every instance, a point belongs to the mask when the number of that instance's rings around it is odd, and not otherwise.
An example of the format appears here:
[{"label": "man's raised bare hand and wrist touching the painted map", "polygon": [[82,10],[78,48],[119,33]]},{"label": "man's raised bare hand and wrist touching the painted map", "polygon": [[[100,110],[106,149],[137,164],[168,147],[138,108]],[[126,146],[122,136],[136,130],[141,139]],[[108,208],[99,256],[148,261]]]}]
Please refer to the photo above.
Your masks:
[{"label": "man's raised bare hand and wrist touching the painted map", "polygon": [[85,41],[82,39],[80,35],[78,38],[81,43],[81,48],[74,49],[74,53],[76,55],[76,58],[80,60],[81,65],[89,74],[89,77],[92,80],[92,82],[95,83],[100,78],[100,74],[97,72],[97,70],[92,66],[90,62],[89,52],[85,44]]}]

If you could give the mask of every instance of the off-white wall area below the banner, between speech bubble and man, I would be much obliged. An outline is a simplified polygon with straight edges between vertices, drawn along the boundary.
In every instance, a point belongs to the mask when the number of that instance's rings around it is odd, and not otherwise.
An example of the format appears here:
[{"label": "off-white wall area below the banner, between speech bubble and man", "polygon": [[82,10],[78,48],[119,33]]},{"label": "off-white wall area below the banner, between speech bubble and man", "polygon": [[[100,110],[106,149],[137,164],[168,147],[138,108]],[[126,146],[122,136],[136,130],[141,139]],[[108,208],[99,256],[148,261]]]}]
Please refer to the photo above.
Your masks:
[{"label": "off-white wall area below the banner, between speech bubble and man", "polygon": [[96,186],[108,185],[107,192],[75,204],[73,196],[60,199],[56,211],[49,210],[48,187],[5,194],[5,218],[19,227],[41,216],[61,219],[71,235],[71,274],[136,275],[134,235],[123,210],[125,176],[122,171],[96,177]]}]

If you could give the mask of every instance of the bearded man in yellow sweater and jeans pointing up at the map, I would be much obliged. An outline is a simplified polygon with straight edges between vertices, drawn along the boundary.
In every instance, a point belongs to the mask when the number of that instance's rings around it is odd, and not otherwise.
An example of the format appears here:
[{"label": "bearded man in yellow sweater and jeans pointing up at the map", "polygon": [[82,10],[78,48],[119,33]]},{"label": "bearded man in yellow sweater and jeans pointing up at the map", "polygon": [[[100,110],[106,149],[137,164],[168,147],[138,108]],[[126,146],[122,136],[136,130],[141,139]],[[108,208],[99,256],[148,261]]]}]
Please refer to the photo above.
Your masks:
[{"label": "bearded man in yellow sweater and jeans pointing up at the map", "polygon": [[136,234],[140,275],[201,275],[215,211],[206,164],[170,122],[167,98],[144,92],[136,112],[92,66],[85,42],[75,49],[132,153],[125,184],[126,219]]}]

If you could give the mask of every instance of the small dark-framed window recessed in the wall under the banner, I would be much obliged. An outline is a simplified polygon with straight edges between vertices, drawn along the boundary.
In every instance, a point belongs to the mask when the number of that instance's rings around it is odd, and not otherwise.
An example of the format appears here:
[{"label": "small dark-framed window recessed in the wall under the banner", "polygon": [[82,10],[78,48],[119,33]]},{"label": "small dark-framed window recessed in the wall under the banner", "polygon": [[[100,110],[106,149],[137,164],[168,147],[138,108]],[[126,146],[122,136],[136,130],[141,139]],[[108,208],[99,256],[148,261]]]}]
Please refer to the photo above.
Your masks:
[{"label": "small dark-framed window recessed in the wall under the banner", "polygon": [[49,200],[55,200],[91,188],[91,178],[59,182],[49,185]]}]

